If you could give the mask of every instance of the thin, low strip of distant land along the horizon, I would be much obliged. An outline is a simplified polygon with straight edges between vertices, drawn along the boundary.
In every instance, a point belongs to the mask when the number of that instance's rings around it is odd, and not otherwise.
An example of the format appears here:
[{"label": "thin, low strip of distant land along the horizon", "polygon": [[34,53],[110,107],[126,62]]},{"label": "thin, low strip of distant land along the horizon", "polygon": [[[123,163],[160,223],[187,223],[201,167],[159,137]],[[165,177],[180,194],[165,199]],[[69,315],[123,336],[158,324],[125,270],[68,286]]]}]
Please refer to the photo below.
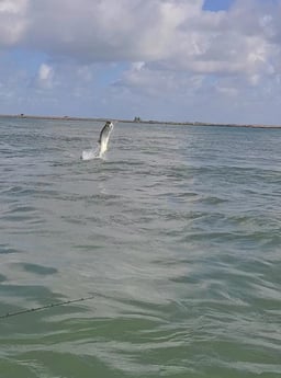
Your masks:
[{"label": "thin, low strip of distant land along the horizon", "polygon": [[105,122],[117,121],[130,124],[151,124],[151,125],[181,125],[181,126],[218,126],[218,127],[249,127],[249,128],[281,128],[281,125],[251,125],[251,124],[216,124],[206,122],[172,122],[172,121],[146,121],[146,119],[113,119],[97,117],[72,117],[72,116],[52,116],[52,115],[29,115],[29,114],[0,114],[0,118],[21,118],[21,119],[57,119],[57,121],[92,121]]}]

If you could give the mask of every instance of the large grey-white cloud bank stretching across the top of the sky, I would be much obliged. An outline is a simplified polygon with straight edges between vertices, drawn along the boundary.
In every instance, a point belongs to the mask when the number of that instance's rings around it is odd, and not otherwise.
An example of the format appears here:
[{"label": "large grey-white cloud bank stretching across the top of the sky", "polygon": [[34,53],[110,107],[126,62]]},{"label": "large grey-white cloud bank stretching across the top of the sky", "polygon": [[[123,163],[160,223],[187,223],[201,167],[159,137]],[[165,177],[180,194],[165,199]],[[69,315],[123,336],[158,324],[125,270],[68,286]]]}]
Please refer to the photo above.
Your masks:
[{"label": "large grey-white cloud bank stretching across the top of the sky", "polygon": [[2,0],[1,42],[88,64],[267,73],[268,61],[271,70],[280,61],[281,26],[272,2],[263,3],[237,0],[229,12],[207,12],[203,0]]}]

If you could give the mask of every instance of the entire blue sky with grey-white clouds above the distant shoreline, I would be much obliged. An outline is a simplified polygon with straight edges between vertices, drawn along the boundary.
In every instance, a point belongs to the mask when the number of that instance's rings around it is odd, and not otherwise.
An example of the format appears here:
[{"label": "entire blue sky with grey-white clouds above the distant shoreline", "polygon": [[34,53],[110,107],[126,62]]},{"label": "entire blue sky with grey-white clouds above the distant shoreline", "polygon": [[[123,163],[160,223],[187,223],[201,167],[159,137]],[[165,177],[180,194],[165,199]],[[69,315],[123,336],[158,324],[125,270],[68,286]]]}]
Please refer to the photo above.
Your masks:
[{"label": "entire blue sky with grey-white clouds above the distant shoreline", "polygon": [[281,124],[281,0],[0,0],[0,114]]}]

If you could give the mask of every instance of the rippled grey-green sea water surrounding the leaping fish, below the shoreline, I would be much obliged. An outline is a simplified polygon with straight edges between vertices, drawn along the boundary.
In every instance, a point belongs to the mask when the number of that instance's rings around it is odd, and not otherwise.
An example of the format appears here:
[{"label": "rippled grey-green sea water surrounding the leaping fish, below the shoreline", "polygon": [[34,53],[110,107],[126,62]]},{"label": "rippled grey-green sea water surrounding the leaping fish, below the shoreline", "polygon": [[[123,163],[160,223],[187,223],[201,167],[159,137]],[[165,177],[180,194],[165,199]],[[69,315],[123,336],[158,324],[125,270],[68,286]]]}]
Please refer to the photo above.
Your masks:
[{"label": "rippled grey-green sea water surrounding the leaping fish, below the shoreline", "polygon": [[0,118],[0,377],[281,377],[281,129],[102,126]]}]

